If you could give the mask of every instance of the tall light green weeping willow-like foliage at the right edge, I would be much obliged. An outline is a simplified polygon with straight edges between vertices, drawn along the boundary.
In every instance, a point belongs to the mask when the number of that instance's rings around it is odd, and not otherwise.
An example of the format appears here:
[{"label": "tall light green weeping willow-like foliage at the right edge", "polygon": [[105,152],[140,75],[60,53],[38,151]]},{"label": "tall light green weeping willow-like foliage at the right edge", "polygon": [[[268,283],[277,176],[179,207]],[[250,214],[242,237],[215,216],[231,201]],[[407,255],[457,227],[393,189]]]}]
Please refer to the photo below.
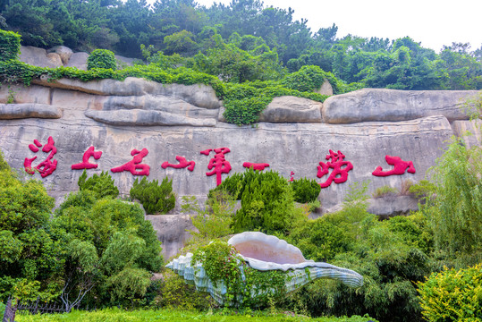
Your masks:
[{"label": "tall light green weeping willow-like foliage at the right edge", "polygon": [[482,261],[482,148],[454,140],[431,169],[435,198],[424,211],[435,245],[458,267]]}]

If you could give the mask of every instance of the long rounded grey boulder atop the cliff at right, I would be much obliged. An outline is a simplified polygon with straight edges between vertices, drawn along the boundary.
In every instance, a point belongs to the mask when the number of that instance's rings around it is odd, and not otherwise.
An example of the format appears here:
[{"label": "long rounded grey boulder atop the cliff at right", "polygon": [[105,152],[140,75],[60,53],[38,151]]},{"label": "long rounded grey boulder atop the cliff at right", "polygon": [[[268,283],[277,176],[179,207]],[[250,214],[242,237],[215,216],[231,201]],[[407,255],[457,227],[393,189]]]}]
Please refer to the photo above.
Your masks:
[{"label": "long rounded grey boulder atop the cliff at right", "polygon": [[329,97],[323,103],[326,123],[406,121],[430,115],[444,115],[449,121],[468,120],[464,101],[477,90],[359,89]]}]

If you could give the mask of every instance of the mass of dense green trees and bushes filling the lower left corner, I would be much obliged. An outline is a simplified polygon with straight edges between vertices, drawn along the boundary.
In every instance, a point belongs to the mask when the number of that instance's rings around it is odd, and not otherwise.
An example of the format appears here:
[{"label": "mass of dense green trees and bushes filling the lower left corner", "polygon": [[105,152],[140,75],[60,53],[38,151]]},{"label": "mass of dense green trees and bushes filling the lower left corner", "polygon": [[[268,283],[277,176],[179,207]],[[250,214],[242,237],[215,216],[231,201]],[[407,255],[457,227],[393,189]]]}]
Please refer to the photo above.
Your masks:
[{"label": "mass of dense green trees and bushes filling the lower left corner", "polygon": [[20,180],[0,156],[1,301],[39,297],[69,311],[81,301],[144,299],[163,263],[152,225],[139,205],[113,199],[110,176],[84,177],[80,186],[52,214],[42,183]]}]

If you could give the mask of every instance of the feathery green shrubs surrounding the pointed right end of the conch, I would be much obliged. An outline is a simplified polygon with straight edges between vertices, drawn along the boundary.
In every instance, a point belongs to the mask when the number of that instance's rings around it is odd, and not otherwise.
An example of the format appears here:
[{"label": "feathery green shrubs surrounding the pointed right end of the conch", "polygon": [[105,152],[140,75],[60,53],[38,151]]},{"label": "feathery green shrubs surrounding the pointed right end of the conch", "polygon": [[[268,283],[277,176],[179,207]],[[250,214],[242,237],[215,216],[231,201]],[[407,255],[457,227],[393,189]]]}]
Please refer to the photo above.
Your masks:
[{"label": "feathery green shrubs surrounding the pointed right end of the conch", "polygon": [[383,321],[421,321],[414,281],[434,267],[431,231],[424,216],[378,221],[368,214],[367,184],[351,186],[343,208],[293,230],[290,241],[307,258],[328,260],[363,275],[351,289],[335,281],[317,280],[283,302],[312,316],[362,315]]}]

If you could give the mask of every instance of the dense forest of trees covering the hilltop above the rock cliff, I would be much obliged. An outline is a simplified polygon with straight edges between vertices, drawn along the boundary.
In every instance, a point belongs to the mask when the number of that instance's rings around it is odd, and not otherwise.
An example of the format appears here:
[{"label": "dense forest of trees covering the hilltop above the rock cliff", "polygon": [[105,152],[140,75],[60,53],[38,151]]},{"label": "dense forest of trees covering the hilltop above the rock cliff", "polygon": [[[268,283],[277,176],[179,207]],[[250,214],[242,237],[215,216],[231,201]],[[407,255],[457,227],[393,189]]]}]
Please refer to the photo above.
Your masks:
[{"label": "dense forest of trees covering the hilltop above the rock cliff", "polygon": [[7,0],[0,4],[0,27],[19,32],[25,46],[103,48],[177,65],[189,58],[181,64],[195,62],[199,71],[233,82],[279,80],[316,65],[367,87],[482,88],[482,47],[470,51],[469,44],[452,43],[436,54],[409,37],[337,38],[337,26],[310,30],[308,21],[293,21],[292,15],[291,8],[253,0],[209,8],[192,0]]}]

